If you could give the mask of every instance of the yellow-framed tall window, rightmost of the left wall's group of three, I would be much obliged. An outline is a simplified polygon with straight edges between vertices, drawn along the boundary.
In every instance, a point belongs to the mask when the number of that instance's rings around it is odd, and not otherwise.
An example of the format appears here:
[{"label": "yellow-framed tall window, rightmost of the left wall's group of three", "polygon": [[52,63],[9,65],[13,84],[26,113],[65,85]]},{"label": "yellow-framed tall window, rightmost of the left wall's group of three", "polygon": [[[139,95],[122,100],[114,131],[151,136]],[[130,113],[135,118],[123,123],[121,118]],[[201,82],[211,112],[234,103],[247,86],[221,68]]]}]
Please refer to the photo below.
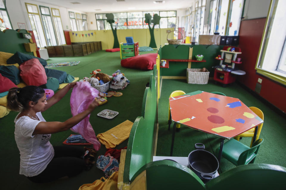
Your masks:
[{"label": "yellow-framed tall window, rightmost of the left wall's group of three", "polygon": [[51,8],[52,9],[52,16],[55,25],[56,37],[59,45],[66,44],[65,35],[63,33],[63,25],[62,20],[60,19],[60,10]]}]

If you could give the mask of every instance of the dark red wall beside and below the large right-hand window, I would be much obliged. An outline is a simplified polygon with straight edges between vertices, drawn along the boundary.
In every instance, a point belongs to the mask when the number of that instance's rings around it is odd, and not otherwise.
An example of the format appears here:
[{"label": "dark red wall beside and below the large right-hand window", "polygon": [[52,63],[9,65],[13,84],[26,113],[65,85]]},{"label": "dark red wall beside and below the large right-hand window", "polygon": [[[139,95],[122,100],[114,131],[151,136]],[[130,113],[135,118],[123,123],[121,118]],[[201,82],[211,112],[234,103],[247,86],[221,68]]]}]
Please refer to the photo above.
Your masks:
[{"label": "dark red wall beside and below the large right-hand window", "polygon": [[260,96],[286,113],[286,88],[266,77],[256,74],[255,65],[263,35],[266,18],[243,20],[240,24],[239,47],[241,48],[241,70],[246,72],[240,83],[254,91],[258,78],[262,79]]}]

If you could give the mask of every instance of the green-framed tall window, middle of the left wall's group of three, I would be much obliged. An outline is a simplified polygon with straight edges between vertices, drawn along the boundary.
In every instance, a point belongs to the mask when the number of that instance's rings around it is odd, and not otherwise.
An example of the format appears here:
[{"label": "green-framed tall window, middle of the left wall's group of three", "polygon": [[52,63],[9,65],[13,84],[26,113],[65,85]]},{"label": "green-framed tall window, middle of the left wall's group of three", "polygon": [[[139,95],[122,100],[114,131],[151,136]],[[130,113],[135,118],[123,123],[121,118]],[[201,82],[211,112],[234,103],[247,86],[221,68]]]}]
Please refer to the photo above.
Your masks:
[{"label": "green-framed tall window, middle of the left wall's group of three", "polygon": [[47,44],[48,46],[57,45],[57,40],[55,37],[55,31],[52,23],[52,17],[50,14],[49,7],[39,6],[41,10],[43,27],[46,34]]}]

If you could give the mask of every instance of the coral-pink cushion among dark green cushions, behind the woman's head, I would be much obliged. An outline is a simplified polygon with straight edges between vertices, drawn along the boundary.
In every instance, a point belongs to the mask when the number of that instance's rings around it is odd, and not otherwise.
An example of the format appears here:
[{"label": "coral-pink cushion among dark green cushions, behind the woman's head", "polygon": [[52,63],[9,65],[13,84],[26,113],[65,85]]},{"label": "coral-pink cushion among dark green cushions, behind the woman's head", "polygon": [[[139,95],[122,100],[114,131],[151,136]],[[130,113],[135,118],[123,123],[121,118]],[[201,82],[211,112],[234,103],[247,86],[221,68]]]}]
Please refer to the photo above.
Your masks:
[{"label": "coral-pink cushion among dark green cushions, behind the woman's head", "polygon": [[29,59],[20,65],[20,77],[27,85],[40,86],[47,83],[43,65],[36,58]]}]

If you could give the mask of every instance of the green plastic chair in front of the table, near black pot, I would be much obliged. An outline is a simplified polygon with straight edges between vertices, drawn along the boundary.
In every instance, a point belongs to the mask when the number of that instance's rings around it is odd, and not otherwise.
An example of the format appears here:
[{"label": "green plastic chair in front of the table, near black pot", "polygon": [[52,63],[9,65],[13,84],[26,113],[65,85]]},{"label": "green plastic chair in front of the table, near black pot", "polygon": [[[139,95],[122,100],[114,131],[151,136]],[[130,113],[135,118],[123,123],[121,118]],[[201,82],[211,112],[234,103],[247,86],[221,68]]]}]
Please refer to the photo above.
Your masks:
[{"label": "green plastic chair in front of the table, near black pot", "polygon": [[[243,143],[231,139],[223,145],[222,156],[236,166],[254,163],[259,146],[262,142],[263,139],[258,139],[253,143],[252,148],[249,148]],[[217,152],[218,151],[219,148],[217,149]]]}]

